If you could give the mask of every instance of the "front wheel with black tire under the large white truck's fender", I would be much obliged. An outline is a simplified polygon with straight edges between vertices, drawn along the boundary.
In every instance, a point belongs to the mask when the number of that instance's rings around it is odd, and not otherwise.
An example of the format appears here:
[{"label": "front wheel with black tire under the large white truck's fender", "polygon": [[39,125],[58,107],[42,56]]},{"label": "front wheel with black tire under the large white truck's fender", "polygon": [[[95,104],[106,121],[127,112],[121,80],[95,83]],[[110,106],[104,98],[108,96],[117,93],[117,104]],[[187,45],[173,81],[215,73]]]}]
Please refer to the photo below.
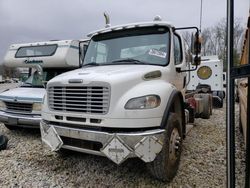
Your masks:
[{"label": "front wheel with black tire under the large white truck's fender", "polygon": [[181,117],[170,113],[165,129],[163,148],[147,167],[155,178],[169,182],[176,175],[180,163],[183,135]]}]

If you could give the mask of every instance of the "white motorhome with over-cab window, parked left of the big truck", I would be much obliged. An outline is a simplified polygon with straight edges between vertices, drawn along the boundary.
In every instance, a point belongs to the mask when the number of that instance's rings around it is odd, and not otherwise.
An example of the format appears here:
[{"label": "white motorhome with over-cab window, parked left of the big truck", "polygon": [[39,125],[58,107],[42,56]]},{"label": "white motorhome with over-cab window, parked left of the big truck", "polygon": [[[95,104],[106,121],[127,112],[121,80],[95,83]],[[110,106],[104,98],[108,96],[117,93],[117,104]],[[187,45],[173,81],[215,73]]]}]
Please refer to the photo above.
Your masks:
[{"label": "white motorhome with over-cab window, parked left of the big truck", "polygon": [[[4,64],[30,68],[29,78],[18,88],[0,93],[0,122],[9,129],[39,128],[44,84],[56,75],[80,67],[87,40],[62,40],[13,44]],[[39,69],[39,70],[36,70]],[[43,78],[39,72],[43,69]]]}]

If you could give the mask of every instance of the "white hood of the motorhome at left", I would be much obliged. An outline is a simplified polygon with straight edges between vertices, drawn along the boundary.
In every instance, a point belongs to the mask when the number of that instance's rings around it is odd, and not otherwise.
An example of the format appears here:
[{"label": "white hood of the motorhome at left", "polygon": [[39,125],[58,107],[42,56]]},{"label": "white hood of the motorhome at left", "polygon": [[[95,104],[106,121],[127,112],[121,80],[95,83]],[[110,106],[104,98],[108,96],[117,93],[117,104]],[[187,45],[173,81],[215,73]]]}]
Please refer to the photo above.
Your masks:
[{"label": "white hood of the motorhome at left", "polygon": [[0,100],[42,102],[44,88],[18,87],[0,93]]}]

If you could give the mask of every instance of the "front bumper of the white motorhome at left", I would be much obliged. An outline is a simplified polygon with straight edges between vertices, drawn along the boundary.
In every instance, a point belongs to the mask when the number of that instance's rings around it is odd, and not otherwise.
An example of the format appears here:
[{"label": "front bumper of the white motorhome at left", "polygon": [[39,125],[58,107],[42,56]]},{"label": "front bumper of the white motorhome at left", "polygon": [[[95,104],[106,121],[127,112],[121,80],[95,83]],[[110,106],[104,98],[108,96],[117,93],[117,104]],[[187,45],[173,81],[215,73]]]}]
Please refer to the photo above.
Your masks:
[{"label": "front bumper of the white motorhome at left", "polygon": [[27,128],[39,128],[41,121],[40,115],[24,115],[24,114],[14,114],[4,111],[0,111],[0,122],[6,125],[27,127]]}]

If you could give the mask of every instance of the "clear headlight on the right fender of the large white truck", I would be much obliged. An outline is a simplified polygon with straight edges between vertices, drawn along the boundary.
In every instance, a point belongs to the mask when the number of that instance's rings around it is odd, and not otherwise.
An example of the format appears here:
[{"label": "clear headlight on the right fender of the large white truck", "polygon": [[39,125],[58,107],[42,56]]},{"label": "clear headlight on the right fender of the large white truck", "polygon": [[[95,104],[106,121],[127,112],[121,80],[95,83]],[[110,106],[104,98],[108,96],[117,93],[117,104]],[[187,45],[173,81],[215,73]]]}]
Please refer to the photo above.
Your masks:
[{"label": "clear headlight on the right fender of the large white truck", "polygon": [[125,105],[125,109],[151,109],[160,105],[161,99],[158,95],[147,95],[130,99]]}]

